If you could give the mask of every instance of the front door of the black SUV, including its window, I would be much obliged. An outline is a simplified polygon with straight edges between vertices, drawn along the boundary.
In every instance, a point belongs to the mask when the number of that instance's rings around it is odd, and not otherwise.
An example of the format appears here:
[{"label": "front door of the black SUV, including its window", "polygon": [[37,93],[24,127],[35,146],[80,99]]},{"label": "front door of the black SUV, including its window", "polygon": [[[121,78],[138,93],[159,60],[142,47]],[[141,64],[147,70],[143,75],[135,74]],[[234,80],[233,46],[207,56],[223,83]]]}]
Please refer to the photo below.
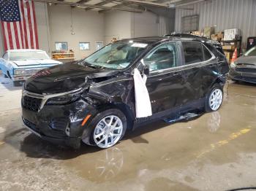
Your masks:
[{"label": "front door of the black SUV, including its window", "polygon": [[178,105],[182,77],[178,69],[181,64],[176,43],[165,43],[149,52],[144,63],[149,67],[146,87],[151,99],[153,114],[163,112]]}]

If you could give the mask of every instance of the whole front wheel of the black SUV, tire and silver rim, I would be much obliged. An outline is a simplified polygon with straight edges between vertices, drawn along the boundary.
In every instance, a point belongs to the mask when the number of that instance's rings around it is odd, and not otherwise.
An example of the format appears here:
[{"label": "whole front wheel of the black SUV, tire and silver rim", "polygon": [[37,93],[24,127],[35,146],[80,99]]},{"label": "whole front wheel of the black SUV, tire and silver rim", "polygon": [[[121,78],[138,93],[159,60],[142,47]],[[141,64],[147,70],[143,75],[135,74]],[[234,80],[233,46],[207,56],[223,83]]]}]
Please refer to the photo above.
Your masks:
[{"label": "whole front wheel of the black SUV, tire and silver rim", "polygon": [[[89,130],[89,133],[86,131]],[[127,117],[118,109],[97,114],[84,130],[82,141],[106,149],[120,141],[127,130]],[[87,137],[90,136],[90,137]]]}]

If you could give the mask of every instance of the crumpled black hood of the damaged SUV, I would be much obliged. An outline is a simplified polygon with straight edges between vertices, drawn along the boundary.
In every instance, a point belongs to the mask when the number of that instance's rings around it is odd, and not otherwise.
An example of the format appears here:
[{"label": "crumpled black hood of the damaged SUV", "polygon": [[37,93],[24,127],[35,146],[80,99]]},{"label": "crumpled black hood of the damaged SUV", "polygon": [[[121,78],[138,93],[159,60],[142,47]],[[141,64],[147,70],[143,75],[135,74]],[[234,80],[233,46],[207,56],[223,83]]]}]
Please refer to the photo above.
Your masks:
[{"label": "crumpled black hood of the damaged SUV", "polygon": [[32,93],[63,93],[86,86],[87,79],[110,77],[118,71],[93,69],[79,62],[64,63],[43,69],[25,82],[25,90]]}]

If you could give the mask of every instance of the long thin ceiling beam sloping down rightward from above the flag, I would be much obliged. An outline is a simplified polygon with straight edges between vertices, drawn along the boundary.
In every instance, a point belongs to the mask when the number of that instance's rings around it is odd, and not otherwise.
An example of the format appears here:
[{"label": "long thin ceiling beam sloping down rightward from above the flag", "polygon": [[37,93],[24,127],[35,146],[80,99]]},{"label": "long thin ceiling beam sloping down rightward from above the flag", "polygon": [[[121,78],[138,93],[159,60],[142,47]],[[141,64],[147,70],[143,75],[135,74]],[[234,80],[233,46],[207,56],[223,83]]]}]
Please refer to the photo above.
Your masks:
[{"label": "long thin ceiling beam sloping down rightward from above the flag", "polygon": [[118,10],[118,11],[125,11],[125,12],[143,12],[141,9],[123,9],[118,7],[105,7],[100,5],[94,4],[82,4],[82,3],[72,3],[67,1],[57,1],[57,0],[34,0],[37,2],[45,2],[45,3],[52,3],[52,4],[63,4],[75,7],[90,7],[90,8],[99,8],[99,9],[110,9],[110,10]]}]

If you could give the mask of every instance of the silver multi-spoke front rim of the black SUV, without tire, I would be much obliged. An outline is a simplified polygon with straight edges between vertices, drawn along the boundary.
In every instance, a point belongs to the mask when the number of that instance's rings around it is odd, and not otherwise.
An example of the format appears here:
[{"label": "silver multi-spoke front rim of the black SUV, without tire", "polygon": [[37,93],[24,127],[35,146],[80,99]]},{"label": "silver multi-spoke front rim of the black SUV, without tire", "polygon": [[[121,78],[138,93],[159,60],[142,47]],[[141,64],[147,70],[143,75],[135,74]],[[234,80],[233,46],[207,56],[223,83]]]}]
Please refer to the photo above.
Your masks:
[{"label": "silver multi-spoke front rim of the black SUV, without tire", "polygon": [[123,123],[116,115],[109,115],[98,122],[94,129],[94,142],[100,148],[112,147],[121,138]]}]

